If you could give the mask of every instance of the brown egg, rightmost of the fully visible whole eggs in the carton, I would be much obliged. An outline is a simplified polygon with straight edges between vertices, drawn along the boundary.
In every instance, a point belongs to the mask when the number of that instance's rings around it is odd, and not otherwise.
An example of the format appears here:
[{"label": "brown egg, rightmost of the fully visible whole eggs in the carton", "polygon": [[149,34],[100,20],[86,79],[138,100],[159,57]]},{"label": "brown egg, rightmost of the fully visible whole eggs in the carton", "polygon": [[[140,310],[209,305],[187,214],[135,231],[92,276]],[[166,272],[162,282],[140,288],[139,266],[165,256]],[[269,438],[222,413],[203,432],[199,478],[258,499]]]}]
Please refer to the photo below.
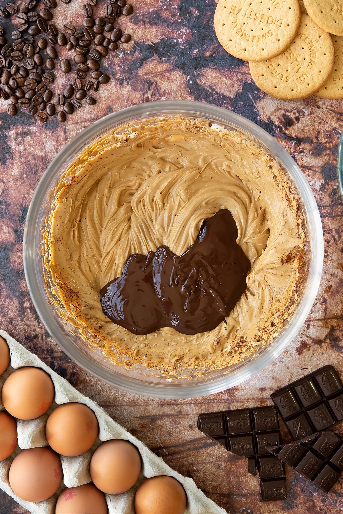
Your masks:
[{"label": "brown egg, rightmost of the fully visible whole eggs in the carton", "polygon": [[89,471],[100,491],[119,494],[128,491],[137,482],[140,468],[137,448],[129,441],[111,439],[95,450]]}]

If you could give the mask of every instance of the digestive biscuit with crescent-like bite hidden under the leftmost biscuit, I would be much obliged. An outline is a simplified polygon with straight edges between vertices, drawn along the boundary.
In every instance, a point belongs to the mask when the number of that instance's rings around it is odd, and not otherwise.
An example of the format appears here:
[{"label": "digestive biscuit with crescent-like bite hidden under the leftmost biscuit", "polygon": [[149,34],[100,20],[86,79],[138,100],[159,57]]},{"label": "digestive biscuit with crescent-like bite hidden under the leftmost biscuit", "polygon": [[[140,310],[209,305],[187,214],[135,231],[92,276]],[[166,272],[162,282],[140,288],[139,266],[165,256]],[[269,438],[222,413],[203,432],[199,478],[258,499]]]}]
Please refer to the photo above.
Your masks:
[{"label": "digestive biscuit with crescent-like bite hidden under the leftmost biscuit", "polygon": [[306,98],[329,78],[334,63],[330,34],[301,15],[299,30],[292,43],[279,56],[249,63],[256,84],[268,95],[282,100]]}]

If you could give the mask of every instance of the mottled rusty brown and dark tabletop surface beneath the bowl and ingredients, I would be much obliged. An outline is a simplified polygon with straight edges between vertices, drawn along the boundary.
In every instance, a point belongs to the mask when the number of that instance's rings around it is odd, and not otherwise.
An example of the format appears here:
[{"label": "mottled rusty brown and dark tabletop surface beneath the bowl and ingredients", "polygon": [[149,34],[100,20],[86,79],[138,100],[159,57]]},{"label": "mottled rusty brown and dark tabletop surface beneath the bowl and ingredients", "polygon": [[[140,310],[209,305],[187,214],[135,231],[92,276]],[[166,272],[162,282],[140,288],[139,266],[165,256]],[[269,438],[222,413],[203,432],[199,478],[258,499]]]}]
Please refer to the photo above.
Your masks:
[{"label": "mottled rusty brown and dark tabletop surface beneath the bowl and ingredients", "polygon": [[[343,511],[343,480],[326,495],[290,469],[288,499],[260,503],[258,479],[248,475],[246,461],[197,431],[196,416],[228,407],[268,405],[272,391],[322,364],[334,364],[343,373],[343,204],[335,170],[343,101],[311,97],[287,103],[261,93],[252,83],[248,65],[229,56],[216,41],[212,25],[214,0],[132,3],[135,13],[125,24],[135,42],[125,47],[122,58],[112,55],[105,60],[113,80],[101,88],[95,107],[80,109],[64,125],[58,126],[56,121],[41,125],[27,114],[10,119],[5,114],[4,101],[0,101],[0,326],[79,391],[96,400],[170,466],[191,476],[230,514],[339,514]],[[77,5],[82,2],[72,0],[62,6],[61,12],[69,13]],[[291,153],[310,182],[324,230],[320,290],[293,343],[277,361],[241,386],[182,401],[124,393],[71,362],[48,336],[35,313],[22,260],[27,208],[50,160],[71,137],[101,116],[157,99],[211,102],[265,128]],[[23,514],[26,510],[0,493],[0,514],[9,512]]]}]

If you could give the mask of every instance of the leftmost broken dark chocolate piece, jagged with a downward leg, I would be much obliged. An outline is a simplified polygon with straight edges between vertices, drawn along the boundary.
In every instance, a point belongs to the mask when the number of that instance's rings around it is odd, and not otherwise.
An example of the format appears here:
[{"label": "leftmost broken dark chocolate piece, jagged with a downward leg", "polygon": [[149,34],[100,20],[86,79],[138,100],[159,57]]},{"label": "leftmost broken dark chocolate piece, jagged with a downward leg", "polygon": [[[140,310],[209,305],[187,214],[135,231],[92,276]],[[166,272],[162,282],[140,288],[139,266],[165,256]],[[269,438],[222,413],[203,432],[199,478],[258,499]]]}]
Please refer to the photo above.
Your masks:
[{"label": "leftmost broken dark chocolate piece, jagged with a downward leg", "polygon": [[259,472],[262,501],[287,498],[284,465],[279,458],[270,458],[268,451],[281,442],[274,407],[200,414],[197,426],[228,451],[248,458],[248,472]]}]

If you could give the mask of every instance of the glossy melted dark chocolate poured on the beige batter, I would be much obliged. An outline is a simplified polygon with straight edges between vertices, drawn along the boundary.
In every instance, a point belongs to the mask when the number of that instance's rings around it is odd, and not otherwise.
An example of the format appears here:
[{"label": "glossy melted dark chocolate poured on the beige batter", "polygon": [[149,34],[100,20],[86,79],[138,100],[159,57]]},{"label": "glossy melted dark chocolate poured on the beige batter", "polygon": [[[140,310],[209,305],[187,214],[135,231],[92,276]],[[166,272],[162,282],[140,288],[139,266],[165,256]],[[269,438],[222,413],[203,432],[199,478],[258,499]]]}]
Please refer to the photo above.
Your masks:
[{"label": "glossy melted dark chocolate poured on the beige batter", "polygon": [[250,261],[237,236],[232,214],[222,209],[204,221],[180,256],[167,246],[130,255],[121,276],[100,291],[103,313],[133,334],[163,327],[189,335],[212,330],[246,289]]}]

